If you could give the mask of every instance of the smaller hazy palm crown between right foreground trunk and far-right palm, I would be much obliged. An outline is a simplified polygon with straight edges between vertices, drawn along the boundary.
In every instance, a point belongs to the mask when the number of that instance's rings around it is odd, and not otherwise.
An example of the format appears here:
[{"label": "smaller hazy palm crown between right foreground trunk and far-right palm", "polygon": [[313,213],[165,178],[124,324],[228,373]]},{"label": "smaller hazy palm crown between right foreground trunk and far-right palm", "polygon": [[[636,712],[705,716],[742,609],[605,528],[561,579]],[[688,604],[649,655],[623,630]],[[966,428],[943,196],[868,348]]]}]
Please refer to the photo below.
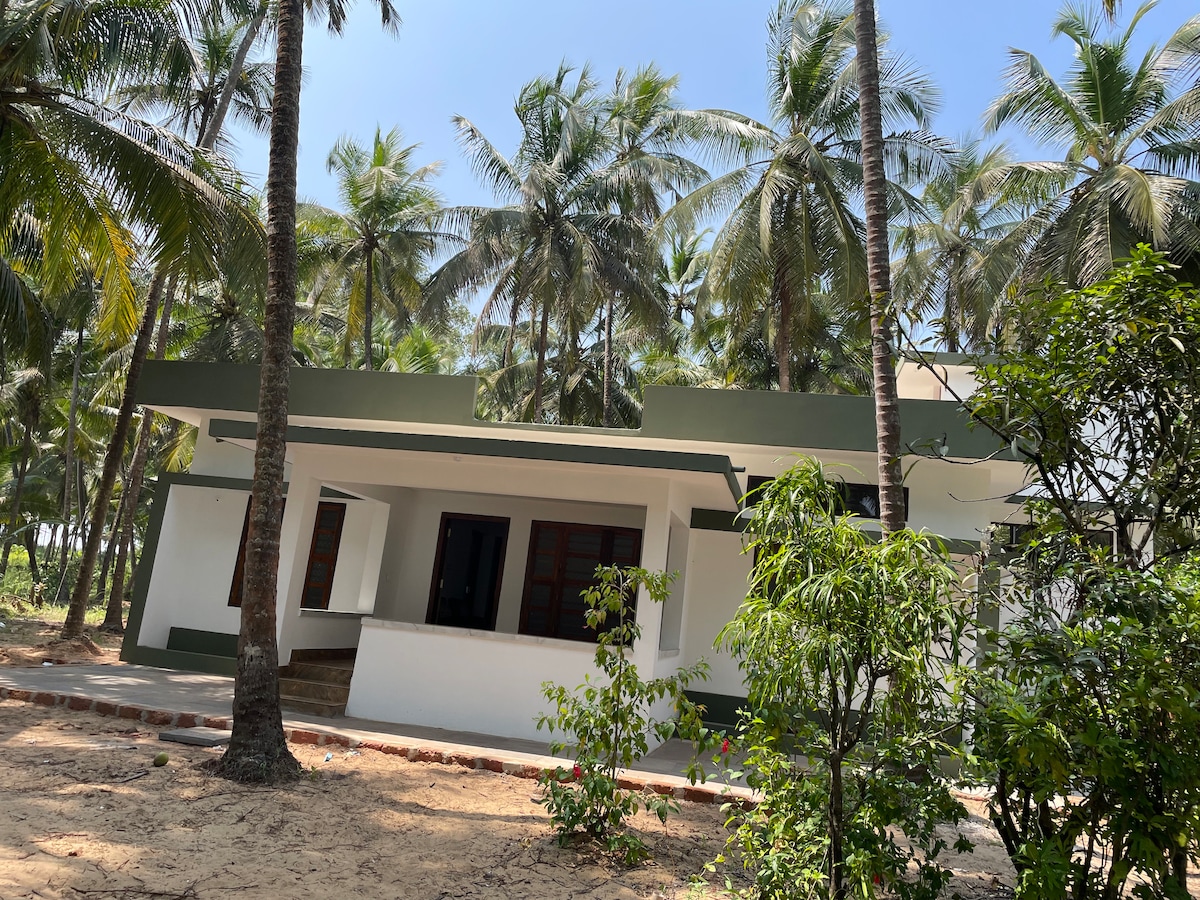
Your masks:
[{"label": "smaller hazy palm crown between right foreground trunk and far-right palm", "polygon": [[1012,162],[1003,145],[967,142],[925,185],[925,215],[894,229],[899,308],[932,325],[950,353],[984,348],[1020,270],[1021,247],[1010,235],[1036,198],[996,190],[995,173]]}]

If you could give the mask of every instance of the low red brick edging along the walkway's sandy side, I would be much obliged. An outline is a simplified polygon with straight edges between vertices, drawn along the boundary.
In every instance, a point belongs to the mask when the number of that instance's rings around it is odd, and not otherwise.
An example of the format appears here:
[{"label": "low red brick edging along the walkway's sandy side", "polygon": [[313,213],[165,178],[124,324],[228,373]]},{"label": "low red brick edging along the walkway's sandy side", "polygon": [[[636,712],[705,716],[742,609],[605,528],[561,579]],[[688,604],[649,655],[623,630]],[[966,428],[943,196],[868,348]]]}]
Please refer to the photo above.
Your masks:
[{"label": "low red brick edging along the walkway's sandy side", "polygon": [[[16,700],[25,703],[37,703],[43,707],[61,707],[72,712],[96,713],[97,715],[110,715],[119,719],[131,719],[155,726],[170,726],[175,728],[194,728],[204,726],[206,728],[221,728],[228,731],[232,722],[223,715],[200,715],[199,713],[172,713],[163,709],[146,709],[132,703],[109,703],[104,700],[92,700],[73,694],[58,694],[55,691],[31,691],[23,688],[0,686],[0,700]],[[389,756],[403,756],[409,762],[434,762],[443,766],[461,766],[467,769],[482,769],[497,772],[514,778],[536,780],[545,770],[540,766],[504,760],[498,756],[486,756],[466,752],[462,750],[439,750],[431,746],[408,746],[404,744],[390,744],[383,740],[359,740],[347,734],[337,732],[325,733],[310,731],[306,728],[283,728],[283,736],[293,744],[310,744],[316,746],[344,746],[347,749],[376,750]],[[641,776],[625,773],[618,779],[618,786],[625,791],[653,791],[659,794],[668,794],[677,800],[686,803],[714,804],[726,800],[737,803],[743,809],[755,805],[752,800],[737,794],[725,793],[722,790],[708,787],[707,785],[671,785],[656,780],[653,775]]]}]

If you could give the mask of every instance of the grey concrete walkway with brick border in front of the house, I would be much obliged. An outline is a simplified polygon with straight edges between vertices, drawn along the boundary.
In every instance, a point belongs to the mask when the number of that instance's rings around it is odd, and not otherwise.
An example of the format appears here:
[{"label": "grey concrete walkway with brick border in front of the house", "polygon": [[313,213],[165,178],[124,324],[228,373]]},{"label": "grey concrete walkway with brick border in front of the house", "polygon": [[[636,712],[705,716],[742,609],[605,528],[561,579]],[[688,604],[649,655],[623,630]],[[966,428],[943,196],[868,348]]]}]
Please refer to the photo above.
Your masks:
[{"label": "grey concrete walkway with brick border in front of the house", "polygon": [[[176,672],[146,666],[43,666],[0,668],[0,698],[120,715],[150,725],[228,728],[233,715],[233,678]],[[494,734],[396,725],[370,719],[326,719],[283,710],[288,739],[305,744],[364,746],[424,762],[443,762],[536,778],[542,770],[572,761],[553,757],[546,743]],[[622,786],[649,787],[698,803],[748,799],[746,788],[708,781],[691,785],[684,776],[691,748],[668,740],[623,773]],[[703,760],[712,769],[709,760]]]}]

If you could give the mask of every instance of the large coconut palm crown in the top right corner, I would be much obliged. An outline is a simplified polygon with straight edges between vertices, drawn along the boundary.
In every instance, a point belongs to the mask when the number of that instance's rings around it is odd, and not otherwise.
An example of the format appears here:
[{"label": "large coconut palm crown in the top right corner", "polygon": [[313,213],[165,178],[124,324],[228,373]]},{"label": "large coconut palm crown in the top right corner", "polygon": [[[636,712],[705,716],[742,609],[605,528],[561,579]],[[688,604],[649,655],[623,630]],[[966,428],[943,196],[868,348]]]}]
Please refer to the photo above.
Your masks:
[{"label": "large coconut palm crown in the top right corner", "polygon": [[1033,54],[1009,53],[985,126],[1015,125],[1060,154],[996,173],[1048,198],[1018,232],[1030,280],[1087,284],[1141,242],[1200,272],[1200,85],[1188,80],[1200,65],[1200,16],[1138,58],[1134,32],[1152,6],[1115,34],[1099,11],[1064,6],[1054,34],[1075,55],[1062,80]]}]

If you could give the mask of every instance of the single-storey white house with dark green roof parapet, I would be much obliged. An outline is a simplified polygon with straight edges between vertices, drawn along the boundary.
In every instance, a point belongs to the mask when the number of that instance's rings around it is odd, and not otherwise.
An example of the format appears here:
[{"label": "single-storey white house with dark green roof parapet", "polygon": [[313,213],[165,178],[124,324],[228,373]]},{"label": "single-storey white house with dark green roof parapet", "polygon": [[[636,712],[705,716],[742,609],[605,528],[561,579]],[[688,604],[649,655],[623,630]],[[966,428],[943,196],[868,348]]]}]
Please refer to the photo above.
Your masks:
[{"label": "single-storey white house with dark green roof parapet", "polygon": [[[965,370],[949,366],[955,378]],[[961,371],[959,371],[961,370]],[[1024,468],[970,431],[928,371],[901,371],[908,521],[977,551]],[[580,590],[598,563],[677,571],[638,610],[643,673],[704,656],[696,698],[728,722],[736,660],[714,650],[745,595],[748,485],[811,454],[877,502],[869,397],[648,388],[636,431],[488,422],[475,379],[293,370],[277,628],[282,664],[354,652],[346,712],[536,737],[545,680],[592,667]],[[148,362],[138,398],[198,430],[155,491],[122,659],[234,670],[258,368]],[[944,457],[944,458],[942,458]],[[906,463],[907,464],[907,463]],[[869,524],[869,523],[868,523]]]}]

